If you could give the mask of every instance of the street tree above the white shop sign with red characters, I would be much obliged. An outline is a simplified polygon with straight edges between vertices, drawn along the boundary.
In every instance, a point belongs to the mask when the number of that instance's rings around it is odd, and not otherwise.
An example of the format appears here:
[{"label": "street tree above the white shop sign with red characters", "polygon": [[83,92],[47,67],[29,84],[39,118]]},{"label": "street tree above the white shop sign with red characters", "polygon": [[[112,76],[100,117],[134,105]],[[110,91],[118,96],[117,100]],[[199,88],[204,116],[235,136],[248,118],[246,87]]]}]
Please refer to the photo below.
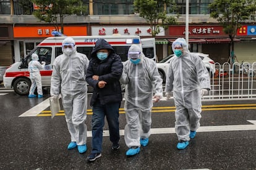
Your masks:
[{"label": "street tree above the white shop sign with red characters", "polygon": [[160,33],[160,27],[164,30],[168,25],[176,23],[176,18],[167,16],[166,9],[169,7],[169,12],[173,12],[173,0],[135,0],[134,11],[139,13],[150,24],[151,35],[153,37]]}]

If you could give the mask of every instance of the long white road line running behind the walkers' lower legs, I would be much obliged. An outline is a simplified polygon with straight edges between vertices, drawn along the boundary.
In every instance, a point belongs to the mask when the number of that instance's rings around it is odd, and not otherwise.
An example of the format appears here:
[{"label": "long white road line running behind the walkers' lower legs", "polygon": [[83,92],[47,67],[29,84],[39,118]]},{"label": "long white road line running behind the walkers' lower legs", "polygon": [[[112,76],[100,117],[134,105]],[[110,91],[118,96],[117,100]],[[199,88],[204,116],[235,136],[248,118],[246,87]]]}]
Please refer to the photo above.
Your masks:
[{"label": "long white road line running behind the walkers' lower legs", "polygon": [[[224,126],[200,126],[197,132],[226,132],[226,131],[256,131],[256,120],[247,120],[252,124],[224,125]],[[151,134],[174,134],[174,127],[152,128]],[[119,130],[120,136],[124,136],[124,129]],[[103,136],[109,136],[109,131],[103,131]],[[92,137],[92,131],[87,131],[87,137]]]}]

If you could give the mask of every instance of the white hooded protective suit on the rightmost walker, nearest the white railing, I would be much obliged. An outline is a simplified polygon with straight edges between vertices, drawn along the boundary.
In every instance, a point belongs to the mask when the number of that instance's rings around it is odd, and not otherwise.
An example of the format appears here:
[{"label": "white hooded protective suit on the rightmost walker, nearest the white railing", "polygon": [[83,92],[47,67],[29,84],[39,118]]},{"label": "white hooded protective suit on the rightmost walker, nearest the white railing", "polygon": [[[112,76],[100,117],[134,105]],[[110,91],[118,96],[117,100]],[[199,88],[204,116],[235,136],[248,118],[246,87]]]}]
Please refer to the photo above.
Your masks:
[{"label": "white hooded protective suit on the rightmost walker, nearest the white railing", "polygon": [[181,57],[172,57],[166,77],[165,92],[173,91],[175,111],[175,131],[179,141],[189,141],[190,131],[200,126],[202,111],[201,89],[210,90],[210,76],[202,59],[191,54],[184,38],[173,42],[181,44]]}]

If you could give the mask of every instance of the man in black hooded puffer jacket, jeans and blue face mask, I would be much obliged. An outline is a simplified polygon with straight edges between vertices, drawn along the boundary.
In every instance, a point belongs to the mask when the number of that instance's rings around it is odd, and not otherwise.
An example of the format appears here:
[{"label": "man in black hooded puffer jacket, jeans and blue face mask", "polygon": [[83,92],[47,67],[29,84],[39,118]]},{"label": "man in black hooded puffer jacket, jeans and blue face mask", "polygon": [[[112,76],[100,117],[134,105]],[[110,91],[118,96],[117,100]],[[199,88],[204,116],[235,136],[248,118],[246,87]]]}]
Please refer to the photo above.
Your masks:
[{"label": "man in black hooded puffer jacket, jeans and blue face mask", "polygon": [[102,152],[105,116],[109,126],[112,149],[119,149],[119,107],[122,101],[119,78],[122,75],[122,61],[113,47],[105,40],[96,41],[87,70],[87,83],[93,87],[90,102],[92,116],[92,153],[88,161],[100,158]]}]

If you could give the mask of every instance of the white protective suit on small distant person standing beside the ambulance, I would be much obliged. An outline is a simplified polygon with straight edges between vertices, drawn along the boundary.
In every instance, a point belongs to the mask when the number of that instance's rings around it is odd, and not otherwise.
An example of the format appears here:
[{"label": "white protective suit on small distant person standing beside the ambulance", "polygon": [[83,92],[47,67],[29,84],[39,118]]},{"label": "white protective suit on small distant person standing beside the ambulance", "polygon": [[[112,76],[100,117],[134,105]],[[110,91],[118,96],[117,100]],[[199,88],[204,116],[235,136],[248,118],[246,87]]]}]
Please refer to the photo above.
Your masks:
[{"label": "white protective suit on small distant person standing beside the ambulance", "polygon": [[43,95],[40,70],[43,70],[45,63],[41,65],[40,62],[38,62],[38,55],[35,53],[32,54],[31,58],[32,60],[28,63],[28,71],[30,73],[31,80],[29,94],[33,95],[35,92],[35,88],[37,87],[37,93],[39,95]]}]

